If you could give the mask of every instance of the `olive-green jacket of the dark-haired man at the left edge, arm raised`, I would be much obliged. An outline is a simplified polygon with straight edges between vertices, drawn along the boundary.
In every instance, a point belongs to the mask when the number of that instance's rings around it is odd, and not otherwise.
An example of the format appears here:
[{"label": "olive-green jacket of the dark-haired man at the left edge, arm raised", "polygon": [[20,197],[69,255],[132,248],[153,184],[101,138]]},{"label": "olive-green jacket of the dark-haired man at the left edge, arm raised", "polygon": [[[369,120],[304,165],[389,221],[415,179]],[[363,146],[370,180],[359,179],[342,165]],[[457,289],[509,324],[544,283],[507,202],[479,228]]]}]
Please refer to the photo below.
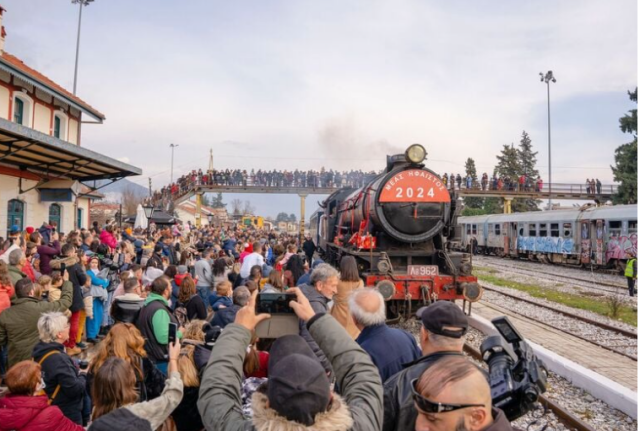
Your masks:
[{"label": "olive-green jacket of the dark-haired man at the left edge, arm raised", "polygon": [[36,298],[14,296],[11,307],[0,313],[0,346],[9,349],[9,368],[20,361],[31,359],[34,346],[38,343],[38,319],[42,313],[65,311],[71,306],[73,284],[65,281],[60,299],[54,302]]}]

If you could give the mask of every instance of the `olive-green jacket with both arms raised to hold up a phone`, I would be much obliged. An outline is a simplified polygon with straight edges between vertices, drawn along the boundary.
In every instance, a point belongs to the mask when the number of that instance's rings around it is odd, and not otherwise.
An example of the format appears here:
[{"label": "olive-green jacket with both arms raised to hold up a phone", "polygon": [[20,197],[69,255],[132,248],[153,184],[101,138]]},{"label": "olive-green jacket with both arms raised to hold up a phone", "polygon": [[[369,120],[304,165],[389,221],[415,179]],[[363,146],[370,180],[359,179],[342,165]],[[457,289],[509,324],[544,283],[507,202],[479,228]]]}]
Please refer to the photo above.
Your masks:
[{"label": "olive-green jacket with both arms raised to hold up a phone", "polygon": [[[331,361],[337,379],[336,385],[342,388],[341,398],[334,395],[333,404],[336,404],[336,398],[343,399],[347,406],[347,416],[350,415],[351,418],[345,420],[344,415],[338,412],[335,416],[342,417],[334,417],[333,420],[340,424],[352,423],[350,428],[337,425],[328,429],[382,429],[382,383],[378,369],[371,362],[369,355],[351,339],[332,316],[320,315],[314,318],[309,333]],[[207,429],[223,431],[301,429],[300,424],[295,422],[288,422],[283,418],[273,419],[277,416],[273,410],[266,415],[260,412],[261,417],[257,417],[257,406],[253,406],[252,420],[243,417],[240,395],[242,363],[246,346],[250,342],[251,333],[236,324],[227,325],[217,340],[200,384],[198,410],[204,426]],[[259,396],[256,398],[254,395],[254,400],[259,399]],[[283,420],[287,423],[283,423]]]}]

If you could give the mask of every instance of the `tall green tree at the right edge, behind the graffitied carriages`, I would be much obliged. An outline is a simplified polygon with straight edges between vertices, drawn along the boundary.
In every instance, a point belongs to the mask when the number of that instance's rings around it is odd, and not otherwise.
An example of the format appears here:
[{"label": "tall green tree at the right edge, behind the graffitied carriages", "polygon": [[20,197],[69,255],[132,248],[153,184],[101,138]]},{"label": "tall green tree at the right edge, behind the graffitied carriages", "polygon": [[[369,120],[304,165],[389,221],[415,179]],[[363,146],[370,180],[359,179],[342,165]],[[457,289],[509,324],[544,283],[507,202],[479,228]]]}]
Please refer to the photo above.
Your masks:
[{"label": "tall green tree at the right edge, behind the graffitied carriages", "polygon": [[[638,103],[638,88],[627,92],[631,101]],[[629,110],[620,118],[620,130],[630,133],[633,141],[616,148],[616,166],[611,167],[613,179],[620,183],[618,193],[613,197],[614,203],[635,204],[638,202],[638,109]]]}]

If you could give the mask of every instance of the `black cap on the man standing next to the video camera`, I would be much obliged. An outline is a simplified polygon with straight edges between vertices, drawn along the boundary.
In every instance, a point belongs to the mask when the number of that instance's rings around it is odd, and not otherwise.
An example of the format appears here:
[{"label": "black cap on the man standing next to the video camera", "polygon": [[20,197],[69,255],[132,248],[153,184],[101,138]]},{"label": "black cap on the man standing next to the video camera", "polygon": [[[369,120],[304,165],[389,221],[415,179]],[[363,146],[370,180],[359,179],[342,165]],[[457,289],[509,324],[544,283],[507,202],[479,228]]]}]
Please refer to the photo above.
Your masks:
[{"label": "black cap on the man standing next to the video camera", "polygon": [[[460,338],[467,333],[469,320],[462,310],[449,301],[438,301],[418,309],[416,312],[422,325],[432,334]],[[456,330],[445,328],[460,328]]]}]

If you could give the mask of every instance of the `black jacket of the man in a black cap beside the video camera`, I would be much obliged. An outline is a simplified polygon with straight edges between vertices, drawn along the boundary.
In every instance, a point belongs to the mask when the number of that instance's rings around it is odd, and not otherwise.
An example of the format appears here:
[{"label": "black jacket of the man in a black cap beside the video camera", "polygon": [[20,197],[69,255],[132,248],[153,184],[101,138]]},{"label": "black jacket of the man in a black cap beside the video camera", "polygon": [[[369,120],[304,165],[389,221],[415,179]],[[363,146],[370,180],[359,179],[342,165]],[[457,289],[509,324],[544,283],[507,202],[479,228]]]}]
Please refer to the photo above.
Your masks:
[{"label": "black jacket of the man in a black cap beside the video camera", "polygon": [[418,417],[411,394],[411,381],[444,356],[463,356],[459,352],[437,352],[407,364],[407,368],[384,383],[383,431],[405,431],[416,427]]}]

